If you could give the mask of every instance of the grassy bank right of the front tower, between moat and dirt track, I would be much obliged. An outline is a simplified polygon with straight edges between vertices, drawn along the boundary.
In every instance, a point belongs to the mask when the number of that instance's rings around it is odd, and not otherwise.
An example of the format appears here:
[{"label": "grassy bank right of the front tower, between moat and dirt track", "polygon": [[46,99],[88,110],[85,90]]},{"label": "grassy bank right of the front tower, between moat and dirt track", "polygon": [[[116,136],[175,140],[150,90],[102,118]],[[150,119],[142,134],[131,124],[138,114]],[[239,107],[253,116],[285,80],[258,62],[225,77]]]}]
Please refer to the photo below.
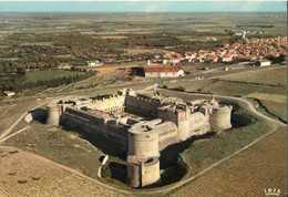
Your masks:
[{"label": "grassy bank right of the front tower, between moat and dirt track", "polygon": [[237,115],[248,116],[253,120],[253,123],[247,126],[222,132],[216,136],[209,137],[207,141],[195,142],[189,148],[184,151],[183,156],[191,175],[240,149],[271,128],[269,123],[255,117],[249,111],[243,107],[237,111]]}]

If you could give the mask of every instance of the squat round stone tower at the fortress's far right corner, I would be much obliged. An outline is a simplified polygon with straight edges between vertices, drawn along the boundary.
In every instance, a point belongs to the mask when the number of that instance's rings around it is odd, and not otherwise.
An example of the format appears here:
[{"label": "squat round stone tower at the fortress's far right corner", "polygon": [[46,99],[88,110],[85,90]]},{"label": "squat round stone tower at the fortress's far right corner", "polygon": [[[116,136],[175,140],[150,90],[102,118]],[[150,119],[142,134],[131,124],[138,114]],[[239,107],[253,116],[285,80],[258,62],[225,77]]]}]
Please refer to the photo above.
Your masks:
[{"label": "squat round stone tower at the fortress's far right corner", "polygon": [[212,131],[223,131],[232,127],[232,106],[219,105],[213,107],[209,116]]}]

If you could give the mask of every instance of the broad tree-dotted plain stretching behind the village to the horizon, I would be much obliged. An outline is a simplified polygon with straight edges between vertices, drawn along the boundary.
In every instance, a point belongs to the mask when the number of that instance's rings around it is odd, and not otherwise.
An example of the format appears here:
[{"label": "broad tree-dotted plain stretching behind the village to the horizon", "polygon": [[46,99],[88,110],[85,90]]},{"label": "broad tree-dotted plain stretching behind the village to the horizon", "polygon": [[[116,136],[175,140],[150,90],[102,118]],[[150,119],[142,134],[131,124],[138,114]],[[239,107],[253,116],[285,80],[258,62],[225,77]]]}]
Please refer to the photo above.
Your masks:
[{"label": "broad tree-dotted plain stretching behind the village to the horizon", "polygon": [[[32,72],[25,76],[24,71],[28,70],[45,71],[61,65],[81,68],[86,66],[86,61],[93,60],[100,60],[104,64],[143,62],[143,58],[157,55],[161,59],[171,50],[181,53],[199,49],[213,50],[237,39],[229,35],[227,29],[240,31],[244,28],[253,32],[261,27],[261,31],[266,32],[265,37],[286,35],[286,13],[277,15],[7,13],[6,22],[0,21],[0,90],[18,92],[25,89],[24,82],[38,83],[43,80],[40,76],[30,77],[37,75]],[[216,38],[217,41],[208,41],[207,37]],[[59,84],[71,80],[61,81]],[[42,86],[43,83],[47,81],[27,87]]]}]

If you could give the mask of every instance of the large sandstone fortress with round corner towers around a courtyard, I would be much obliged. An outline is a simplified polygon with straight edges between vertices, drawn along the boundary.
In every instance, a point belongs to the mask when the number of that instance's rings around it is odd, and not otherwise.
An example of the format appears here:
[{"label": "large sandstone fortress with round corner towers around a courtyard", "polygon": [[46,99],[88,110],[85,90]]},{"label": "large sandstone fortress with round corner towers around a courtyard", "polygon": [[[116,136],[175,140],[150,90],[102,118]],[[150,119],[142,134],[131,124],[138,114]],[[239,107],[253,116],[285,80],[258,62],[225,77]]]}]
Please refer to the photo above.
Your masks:
[{"label": "large sandstone fortress with round corner towers around a courtyard", "polygon": [[125,89],[109,98],[71,97],[50,103],[49,125],[69,125],[119,142],[127,153],[127,183],[161,182],[160,153],[171,144],[232,127],[232,106],[214,98],[183,102]]}]

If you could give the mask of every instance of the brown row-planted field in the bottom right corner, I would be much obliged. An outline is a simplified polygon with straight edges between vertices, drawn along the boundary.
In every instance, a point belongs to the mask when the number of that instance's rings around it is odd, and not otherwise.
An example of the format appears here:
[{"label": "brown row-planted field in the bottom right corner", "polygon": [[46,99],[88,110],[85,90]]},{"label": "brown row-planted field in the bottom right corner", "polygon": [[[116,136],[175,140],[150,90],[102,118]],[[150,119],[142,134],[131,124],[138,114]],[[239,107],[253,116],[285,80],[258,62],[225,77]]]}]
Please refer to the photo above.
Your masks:
[{"label": "brown row-planted field in the bottom right corner", "polygon": [[268,188],[287,196],[286,144],[282,127],[169,196],[265,196]]}]

